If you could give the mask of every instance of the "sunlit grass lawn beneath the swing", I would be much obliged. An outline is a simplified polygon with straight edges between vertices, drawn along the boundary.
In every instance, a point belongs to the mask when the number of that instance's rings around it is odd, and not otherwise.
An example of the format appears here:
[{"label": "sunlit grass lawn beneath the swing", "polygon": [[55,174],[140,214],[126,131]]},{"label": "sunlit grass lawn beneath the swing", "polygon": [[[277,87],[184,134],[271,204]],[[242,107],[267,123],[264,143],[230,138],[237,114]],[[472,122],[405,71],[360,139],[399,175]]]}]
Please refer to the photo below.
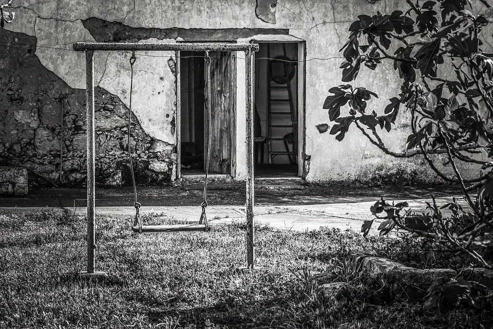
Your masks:
[{"label": "sunlit grass lawn beneath the swing", "polygon": [[[0,327],[492,327],[490,303],[444,309],[441,320],[422,302],[386,304],[385,289],[353,274],[350,257],[395,247],[388,239],[257,227],[258,269],[238,272],[242,225],[134,234],[129,224],[130,218],[98,217],[97,269],[109,277],[89,282],[77,276],[85,269],[85,218],[0,215]],[[347,282],[344,294],[324,299],[314,291],[310,278],[324,271]]]}]

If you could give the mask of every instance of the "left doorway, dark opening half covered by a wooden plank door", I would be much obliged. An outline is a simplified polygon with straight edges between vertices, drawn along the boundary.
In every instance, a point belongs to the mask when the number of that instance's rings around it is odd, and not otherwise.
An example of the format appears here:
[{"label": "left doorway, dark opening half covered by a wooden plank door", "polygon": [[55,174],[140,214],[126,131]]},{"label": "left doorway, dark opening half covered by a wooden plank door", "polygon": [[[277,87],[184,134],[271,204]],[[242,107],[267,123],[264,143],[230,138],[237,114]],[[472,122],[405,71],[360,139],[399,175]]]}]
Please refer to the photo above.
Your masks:
[{"label": "left doorway, dark opening half covered by a wooden plank door", "polygon": [[209,172],[231,174],[235,159],[236,58],[231,51],[210,52],[211,131],[206,108],[205,52],[180,53],[181,174],[204,174],[211,134]]}]

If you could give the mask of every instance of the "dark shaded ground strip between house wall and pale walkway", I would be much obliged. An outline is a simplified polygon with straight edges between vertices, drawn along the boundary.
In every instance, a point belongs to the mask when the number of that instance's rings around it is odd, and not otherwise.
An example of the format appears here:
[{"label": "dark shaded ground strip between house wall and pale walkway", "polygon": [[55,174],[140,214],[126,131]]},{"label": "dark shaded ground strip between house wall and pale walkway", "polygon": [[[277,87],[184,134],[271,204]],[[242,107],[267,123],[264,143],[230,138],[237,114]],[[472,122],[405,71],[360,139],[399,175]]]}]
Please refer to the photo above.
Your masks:
[{"label": "dark shaded ground strip between house wall and pale walkway", "polygon": [[[202,185],[180,188],[139,186],[139,202],[143,206],[194,206],[202,202]],[[279,190],[255,191],[255,204],[264,206],[296,206],[335,203],[370,202],[386,199],[414,200],[437,196],[460,195],[457,186],[421,186],[369,188],[363,186],[294,186]],[[210,205],[240,206],[245,203],[243,184],[211,184],[207,200]],[[96,190],[97,206],[132,206],[134,194],[130,187]],[[0,197],[0,207],[83,207],[86,205],[85,189],[32,189],[28,197]]]}]

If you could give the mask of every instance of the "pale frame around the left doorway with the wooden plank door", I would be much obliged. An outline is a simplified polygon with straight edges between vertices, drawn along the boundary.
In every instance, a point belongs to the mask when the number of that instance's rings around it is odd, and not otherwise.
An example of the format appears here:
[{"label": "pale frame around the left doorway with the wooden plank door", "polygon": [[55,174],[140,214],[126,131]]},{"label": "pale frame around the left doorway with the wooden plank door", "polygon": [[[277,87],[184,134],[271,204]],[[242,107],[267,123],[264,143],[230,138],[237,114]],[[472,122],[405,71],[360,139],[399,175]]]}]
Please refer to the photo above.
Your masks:
[{"label": "pale frame around the left doorway with the wooden plank door", "polygon": [[[217,43],[217,41],[180,41],[180,43]],[[231,41],[224,41],[223,43],[236,43],[236,42],[231,42]],[[237,102],[236,102],[236,79],[237,79],[237,59],[236,59],[236,52],[231,51],[231,57],[232,57],[232,70],[233,70],[233,77],[232,77],[232,82],[235,83],[233,86],[231,92],[233,93],[235,97],[235,101],[233,102],[234,107],[231,111],[231,134],[230,134],[230,139],[231,139],[231,169],[230,169],[230,174],[209,174],[209,176],[215,176],[215,177],[235,177],[236,176],[236,117],[237,117]],[[172,172],[172,180],[180,180],[182,178],[182,173],[181,173],[181,52],[176,51],[176,80],[175,80],[175,87],[176,87],[176,154],[177,154],[177,161],[176,161],[176,173]],[[205,137],[205,136],[204,136]],[[205,151],[205,150],[204,150]],[[188,176],[188,175],[185,175]],[[205,173],[199,174],[199,175],[191,175],[191,176],[205,176]]]}]

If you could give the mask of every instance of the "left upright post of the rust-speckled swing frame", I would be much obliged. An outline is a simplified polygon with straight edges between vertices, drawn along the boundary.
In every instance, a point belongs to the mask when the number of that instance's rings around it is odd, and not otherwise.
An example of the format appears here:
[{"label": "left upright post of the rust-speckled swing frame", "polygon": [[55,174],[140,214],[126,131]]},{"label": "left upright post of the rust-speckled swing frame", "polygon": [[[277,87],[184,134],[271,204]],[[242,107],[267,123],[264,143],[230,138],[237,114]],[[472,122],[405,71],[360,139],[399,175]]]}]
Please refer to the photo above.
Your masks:
[{"label": "left upright post of the rust-speckled swing frame", "polygon": [[94,249],[96,249],[96,180],[94,178],[94,58],[93,51],[86,51],[86,134],[87,134],[87,273],[94,273]]}]

